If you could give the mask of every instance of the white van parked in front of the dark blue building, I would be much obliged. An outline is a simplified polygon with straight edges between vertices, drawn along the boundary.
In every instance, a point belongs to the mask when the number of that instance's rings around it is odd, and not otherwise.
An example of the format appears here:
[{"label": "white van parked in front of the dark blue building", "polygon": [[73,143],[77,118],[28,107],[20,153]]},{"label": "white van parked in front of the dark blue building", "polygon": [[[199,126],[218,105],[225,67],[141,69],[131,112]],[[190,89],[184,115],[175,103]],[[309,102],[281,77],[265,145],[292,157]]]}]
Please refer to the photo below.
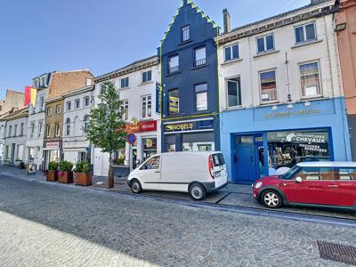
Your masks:
[{"label": "white van parked in front of the dark blue building", "polygon": [[134,193],[142,190],[189,192],[201,200],[206,193],[228,183],[222,152],[173,152],[154,155],[134,169],[127,184]]}]

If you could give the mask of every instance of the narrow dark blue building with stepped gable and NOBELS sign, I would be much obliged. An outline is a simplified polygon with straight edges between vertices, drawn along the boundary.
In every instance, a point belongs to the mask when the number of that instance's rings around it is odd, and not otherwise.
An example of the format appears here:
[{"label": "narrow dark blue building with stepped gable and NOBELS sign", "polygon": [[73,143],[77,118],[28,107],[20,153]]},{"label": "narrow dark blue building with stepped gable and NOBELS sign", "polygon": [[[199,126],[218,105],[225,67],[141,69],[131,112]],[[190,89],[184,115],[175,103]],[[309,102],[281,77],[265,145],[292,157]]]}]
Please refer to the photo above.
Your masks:
[{"label": "narrow dark blue building with stepped gable and NOBELS sign", "polygon": [[183,0],[158,48],[163,152],[220,150],[216,36],[214,21]]}]

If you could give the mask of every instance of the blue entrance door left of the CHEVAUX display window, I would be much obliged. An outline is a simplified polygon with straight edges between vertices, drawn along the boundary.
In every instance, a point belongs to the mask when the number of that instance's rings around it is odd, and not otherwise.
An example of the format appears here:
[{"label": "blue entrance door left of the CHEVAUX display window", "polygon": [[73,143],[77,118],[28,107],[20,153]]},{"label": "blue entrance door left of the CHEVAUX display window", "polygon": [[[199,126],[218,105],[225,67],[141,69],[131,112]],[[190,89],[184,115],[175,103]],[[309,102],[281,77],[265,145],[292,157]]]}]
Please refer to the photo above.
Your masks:
[{"label": "blue entrance door left of the CHEVAUX display window", "polygon": [[254,135],[239,135],[235,138],[233,155],[234,183],[251,183],[257,178],[258,158],[255,153]]}]

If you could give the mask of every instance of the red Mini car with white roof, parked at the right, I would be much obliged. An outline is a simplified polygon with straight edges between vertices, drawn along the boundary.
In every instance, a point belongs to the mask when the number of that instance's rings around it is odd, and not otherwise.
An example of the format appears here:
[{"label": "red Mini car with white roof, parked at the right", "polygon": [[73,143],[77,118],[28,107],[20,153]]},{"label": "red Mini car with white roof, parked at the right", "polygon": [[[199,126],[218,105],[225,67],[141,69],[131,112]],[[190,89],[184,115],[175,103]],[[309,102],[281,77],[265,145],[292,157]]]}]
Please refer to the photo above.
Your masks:
[{"label": "red Mini car with white roof, parked at the right", "polygon": [[257,180],[254,197],[264,206],[338,206],[356,209],[355,162],[303,162],[286,174]]}]

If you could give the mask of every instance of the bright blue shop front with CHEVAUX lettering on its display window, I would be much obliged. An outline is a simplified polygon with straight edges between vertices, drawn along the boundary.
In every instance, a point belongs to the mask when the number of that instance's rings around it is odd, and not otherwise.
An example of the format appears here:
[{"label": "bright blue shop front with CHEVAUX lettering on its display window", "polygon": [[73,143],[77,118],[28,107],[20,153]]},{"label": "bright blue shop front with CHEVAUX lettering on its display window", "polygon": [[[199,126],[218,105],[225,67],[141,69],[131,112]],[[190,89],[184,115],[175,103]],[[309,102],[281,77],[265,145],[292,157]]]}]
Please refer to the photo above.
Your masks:
[{"label": "bright blue shop front with CHEVAUX lettering on its display window", "polygon": [[223,112],[231,182],[255,182],[303,161],[351,160],[343,109],[344,101],[334,99]]}]

